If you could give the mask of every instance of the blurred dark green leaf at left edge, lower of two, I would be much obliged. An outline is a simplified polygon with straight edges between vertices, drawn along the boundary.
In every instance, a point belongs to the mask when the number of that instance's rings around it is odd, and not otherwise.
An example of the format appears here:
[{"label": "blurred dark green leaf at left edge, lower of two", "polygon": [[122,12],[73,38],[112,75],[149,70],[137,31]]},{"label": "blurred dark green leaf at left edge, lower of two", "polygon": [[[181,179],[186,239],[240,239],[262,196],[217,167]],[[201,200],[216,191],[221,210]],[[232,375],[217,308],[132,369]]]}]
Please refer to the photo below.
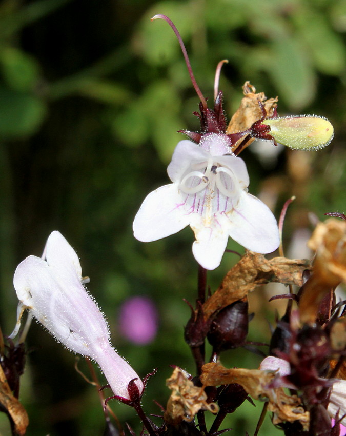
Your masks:
[{"label": "blurred dark green leaf at left edge, lower of two", "polygon": [[0,88],[0,136],[22,138],[36,132],[46,114],[42,100],[28,93]]}]

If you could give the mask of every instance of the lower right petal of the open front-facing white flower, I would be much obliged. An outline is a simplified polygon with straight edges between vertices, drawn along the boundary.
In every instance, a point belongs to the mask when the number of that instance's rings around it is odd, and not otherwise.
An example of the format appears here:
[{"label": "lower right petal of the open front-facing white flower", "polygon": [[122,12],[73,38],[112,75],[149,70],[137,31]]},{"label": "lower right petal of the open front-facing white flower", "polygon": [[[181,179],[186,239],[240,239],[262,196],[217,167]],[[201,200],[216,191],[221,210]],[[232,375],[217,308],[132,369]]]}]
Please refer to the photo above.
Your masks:
[{"label": "lower right petal of the open front-facing white flower", "polygon": [[251,194],[242,192],[228,213],[229,235],[248,250],[271,253],[279,246],[279,230],[271,210]]}]

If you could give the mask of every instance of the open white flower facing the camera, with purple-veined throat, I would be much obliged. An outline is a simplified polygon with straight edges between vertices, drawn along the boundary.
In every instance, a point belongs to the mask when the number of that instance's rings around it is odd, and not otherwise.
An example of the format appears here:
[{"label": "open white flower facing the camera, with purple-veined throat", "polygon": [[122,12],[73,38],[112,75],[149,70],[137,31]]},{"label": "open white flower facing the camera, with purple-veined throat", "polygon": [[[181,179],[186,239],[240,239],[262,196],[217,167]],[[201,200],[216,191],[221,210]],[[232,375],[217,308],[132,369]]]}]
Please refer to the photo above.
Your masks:
[{"label": "open white flower facing the camera, with purple-veined throat", "polygon": [[199,145],[178,143],[167,169],[173,183],[151,192],[135,216],[133,231],[139,241],[156,241],[190,225],[195,259],[210,270],[219,266],[229,236],[259,253],[279,246],[275,217],[247,192],[245,162],[230,153],[225,138],[209,133]]}]

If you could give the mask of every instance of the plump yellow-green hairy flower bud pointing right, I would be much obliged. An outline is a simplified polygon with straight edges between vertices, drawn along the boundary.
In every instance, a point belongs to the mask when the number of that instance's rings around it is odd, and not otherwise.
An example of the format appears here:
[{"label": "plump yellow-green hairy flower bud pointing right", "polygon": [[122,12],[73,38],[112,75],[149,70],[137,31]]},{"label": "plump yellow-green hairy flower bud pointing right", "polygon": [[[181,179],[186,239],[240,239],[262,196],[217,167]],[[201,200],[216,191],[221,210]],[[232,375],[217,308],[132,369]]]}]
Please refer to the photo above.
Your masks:
[{"label": "plump yellow-green hairy flower bud pointing right", "polygon": [[317,115],[267,118],[262,124],[270,126],[270,134],[277,142],[299,150],[323,148],[334,136],[332,124]]}]

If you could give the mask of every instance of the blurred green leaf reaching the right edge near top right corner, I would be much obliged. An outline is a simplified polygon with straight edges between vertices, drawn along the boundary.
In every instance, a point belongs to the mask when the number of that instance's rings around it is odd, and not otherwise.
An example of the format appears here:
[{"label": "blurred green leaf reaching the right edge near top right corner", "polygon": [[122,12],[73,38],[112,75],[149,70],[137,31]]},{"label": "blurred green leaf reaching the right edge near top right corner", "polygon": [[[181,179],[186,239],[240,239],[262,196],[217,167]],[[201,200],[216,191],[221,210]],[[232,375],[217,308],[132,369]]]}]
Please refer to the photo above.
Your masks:
[{"label": "blurred green leaf reaching the right edge near top right corner", "polygon": [[321,12],[311,9],[295,15],[299,33],[309,45],[316,68],[324,74],[340,74],[345,67],[345,47]]}]

